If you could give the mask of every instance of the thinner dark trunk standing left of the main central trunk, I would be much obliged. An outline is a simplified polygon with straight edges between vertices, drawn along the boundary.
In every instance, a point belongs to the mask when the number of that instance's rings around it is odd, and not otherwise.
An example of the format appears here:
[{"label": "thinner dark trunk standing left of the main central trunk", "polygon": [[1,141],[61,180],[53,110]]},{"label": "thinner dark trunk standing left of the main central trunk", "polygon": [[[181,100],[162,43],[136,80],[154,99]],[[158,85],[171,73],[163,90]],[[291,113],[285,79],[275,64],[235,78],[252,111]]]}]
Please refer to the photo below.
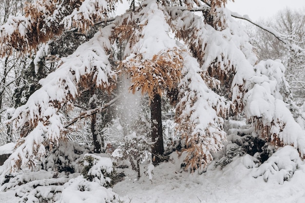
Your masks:
[{"label": "thinner dark trunk standing left of the main central trunk", "polygon": [[[90,93],[91,93],[91,96],[94,95],[94,93],[95,93],[94,88],[91,89]],[[96,108],[94,99],[90,103],[90,108],[91,109]],[[98,139],[99,135],[98,135],[98,128],[97,128],[97,124],[96,124],[96,113],[91,115],[91,132],[92,132],[92,137],[93,137],[94,152],[101,153],[101,144],[99,142],[100,139]]]}]

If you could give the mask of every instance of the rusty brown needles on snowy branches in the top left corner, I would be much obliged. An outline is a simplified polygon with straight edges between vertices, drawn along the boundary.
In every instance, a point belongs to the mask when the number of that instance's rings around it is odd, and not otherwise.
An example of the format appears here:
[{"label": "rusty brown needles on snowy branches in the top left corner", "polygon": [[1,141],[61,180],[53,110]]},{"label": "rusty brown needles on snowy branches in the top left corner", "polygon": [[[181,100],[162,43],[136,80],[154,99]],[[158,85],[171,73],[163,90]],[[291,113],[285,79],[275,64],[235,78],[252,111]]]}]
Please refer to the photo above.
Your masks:
[{"label": "rusty brown needles on snowy branches in the top left corner", "polygon": [[[12,34],[2,34],[0,38],[0,56],[12,55],[16,50],[21,54],[37,51],[40,43],[46,43],[55,36],[61,35],[64,26],[60,24],[62,19],[77,9],[84,0],[38,0],[34,3],[26,3],[24,7],[24,17],[13,18],[14,23],[10,26],[15,27]],[[102,16],[106,18],[108,12],[114,9],[116,0],[109,0],[110,6],[108,10],[102,12]],[[61,9],[60,7],[64,7]],[[81,32],[86,32],[95,21],[102,17],[95,12],[90,16],[90,20],[73,20],[72,24]],[[24,28],[25,33],[19,32]],[[0,31],[3,32],[3,31]]]}]

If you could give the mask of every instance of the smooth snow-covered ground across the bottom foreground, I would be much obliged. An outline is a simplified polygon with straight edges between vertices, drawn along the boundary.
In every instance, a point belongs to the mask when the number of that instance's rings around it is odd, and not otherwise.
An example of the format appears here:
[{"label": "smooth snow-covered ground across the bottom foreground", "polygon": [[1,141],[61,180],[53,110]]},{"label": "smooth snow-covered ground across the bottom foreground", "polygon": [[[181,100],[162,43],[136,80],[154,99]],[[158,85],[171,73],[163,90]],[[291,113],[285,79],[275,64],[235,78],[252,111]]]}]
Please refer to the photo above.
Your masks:
[{"label": "smooth snow-covered ground across the bottom foreground", "polygon": [[[247,156],[235,157],[226,167],[208,168],[199,175],[181,171],[174,152],[167,163],[137,180],[136,172],[126,170],[125,180],[114,185],[113,191],[124,203],[304,203],[305,166],[302,162],[293,177],[284,184],[253,178],[247,168]],[[16,188],[15,188],[16,189]],[[17,203],[15,191],[0,192],[0,203]]]}]

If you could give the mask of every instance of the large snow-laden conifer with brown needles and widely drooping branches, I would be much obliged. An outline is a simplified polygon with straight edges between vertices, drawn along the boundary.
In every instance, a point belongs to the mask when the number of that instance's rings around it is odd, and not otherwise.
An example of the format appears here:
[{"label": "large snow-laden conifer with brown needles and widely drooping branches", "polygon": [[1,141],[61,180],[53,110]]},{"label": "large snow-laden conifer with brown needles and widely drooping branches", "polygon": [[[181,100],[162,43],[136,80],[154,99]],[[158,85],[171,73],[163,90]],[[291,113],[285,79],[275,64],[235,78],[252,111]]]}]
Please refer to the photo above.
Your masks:
[{"label": "large snow-laden conifer with brown needles and widely drooping branches", "polygon": [[[305,132],[287,108],[285,68],[277,61],[257,64],[247,34],[225,8],[226,0],[146,0],[112,18],[116,3],[37,0],[27,4],[24,16],[10,17],[1,26],[0,55],[7,56],[38,51],[64,30],[86,33],[101,25],[94,37],[61,58],[57,70],[41,79],[41,88],[16,109],[9,122],[21,138],[2,174],[36,169],[47,148],[69,133],[60,110],[74,109],[74,101],[92,88],[113,93],[125,75],[131,92],[150,98],[154,164],[164,151],[162,95],[175,108],[182,154],[191,171],[207,166],[213,152],[223,147],[224,118],[243,113],[270,144],[293,145],[304,156]],[[121,59],[114,53],[117,47],[124,49]],[[115,100],[92,105],[76,121],[105,111]],[[290,128],[297,133],[292,135]]]}]

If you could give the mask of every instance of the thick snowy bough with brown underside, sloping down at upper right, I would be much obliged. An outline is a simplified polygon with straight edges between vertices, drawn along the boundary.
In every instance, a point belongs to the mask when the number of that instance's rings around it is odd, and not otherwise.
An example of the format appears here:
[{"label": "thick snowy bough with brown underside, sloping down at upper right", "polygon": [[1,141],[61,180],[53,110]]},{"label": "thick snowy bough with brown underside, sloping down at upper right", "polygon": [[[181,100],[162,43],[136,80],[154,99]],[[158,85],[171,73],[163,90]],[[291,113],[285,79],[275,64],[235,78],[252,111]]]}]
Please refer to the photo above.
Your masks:
[{"label": "thick snowy bough with brown underside, sloping down at upper right", "polygon": [[217,93],[231,98],[238,108],[236,110],[242,111],[242,87],[257,61],[244,28],[230,17],[226,20],[227,27],[217,31],[190,11],[172,7],[169,14],[173,19],[171,25],[176,37],[186,42],[207,76],[218,81],[205,78],[209,86],[216,89]]}]

